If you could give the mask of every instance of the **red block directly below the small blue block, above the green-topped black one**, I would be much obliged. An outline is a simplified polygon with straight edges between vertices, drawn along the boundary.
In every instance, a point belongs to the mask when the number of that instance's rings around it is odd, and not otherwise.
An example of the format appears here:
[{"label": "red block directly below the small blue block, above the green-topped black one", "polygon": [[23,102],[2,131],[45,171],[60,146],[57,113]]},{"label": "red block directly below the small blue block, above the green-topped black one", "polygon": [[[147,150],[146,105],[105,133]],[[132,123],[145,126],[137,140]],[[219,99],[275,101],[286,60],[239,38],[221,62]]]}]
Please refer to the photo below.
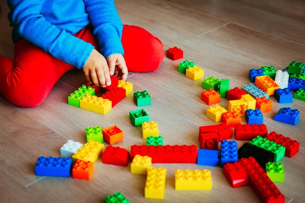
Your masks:
[{"label": "red block directly below the small blue block, above the green-topped black one", "polygon": [[235,125],[235,140],[253,140],[259,134],[264,137],[268,134],[268,130],[265,124],[236,124]]}]

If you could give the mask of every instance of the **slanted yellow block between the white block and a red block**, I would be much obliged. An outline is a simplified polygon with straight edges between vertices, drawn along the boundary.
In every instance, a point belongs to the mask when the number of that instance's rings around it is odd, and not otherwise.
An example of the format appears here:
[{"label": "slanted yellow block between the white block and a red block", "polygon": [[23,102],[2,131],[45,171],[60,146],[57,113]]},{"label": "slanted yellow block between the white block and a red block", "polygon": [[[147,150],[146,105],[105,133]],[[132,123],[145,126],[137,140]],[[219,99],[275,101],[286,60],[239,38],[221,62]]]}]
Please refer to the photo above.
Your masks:
[{"label": "slanted yellow block between the white block and a red block", "polygon": [[89,140],[89,142],[84,144],[75,152],[75,154],[72,155],[72,159],[73,161],[80,159],[83,161],[95,162],[101,156],[103,150],[104,144]]}]

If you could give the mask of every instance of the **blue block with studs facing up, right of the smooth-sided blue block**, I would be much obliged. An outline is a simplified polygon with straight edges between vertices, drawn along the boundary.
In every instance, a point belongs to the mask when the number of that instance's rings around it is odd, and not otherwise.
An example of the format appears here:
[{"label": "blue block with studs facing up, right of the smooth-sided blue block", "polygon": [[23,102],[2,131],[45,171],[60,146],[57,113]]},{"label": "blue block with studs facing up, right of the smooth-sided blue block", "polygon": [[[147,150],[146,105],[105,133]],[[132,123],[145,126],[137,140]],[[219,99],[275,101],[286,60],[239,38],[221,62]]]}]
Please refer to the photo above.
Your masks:
[{"label": "blue block with studs facing up, right of the smooth-sided blue block", "polygon": [[238,161],[238,149],[237,142],[221,141],[220,143],[220,165],[223,166],[226,163],[233,163]]}]

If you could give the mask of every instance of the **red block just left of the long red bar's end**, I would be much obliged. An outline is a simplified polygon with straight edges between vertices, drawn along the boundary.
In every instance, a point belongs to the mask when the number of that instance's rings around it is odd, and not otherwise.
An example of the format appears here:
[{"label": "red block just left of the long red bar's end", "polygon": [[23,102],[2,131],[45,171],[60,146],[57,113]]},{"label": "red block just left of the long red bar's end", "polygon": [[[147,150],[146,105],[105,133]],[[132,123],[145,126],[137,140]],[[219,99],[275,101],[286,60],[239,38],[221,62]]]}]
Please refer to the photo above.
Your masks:
[{"label": "red block just left of the long red bar's end", "polygon": [[127,166],[130,154],[126,149],[108,145],[102,154],[102,161],[106,164]]}]

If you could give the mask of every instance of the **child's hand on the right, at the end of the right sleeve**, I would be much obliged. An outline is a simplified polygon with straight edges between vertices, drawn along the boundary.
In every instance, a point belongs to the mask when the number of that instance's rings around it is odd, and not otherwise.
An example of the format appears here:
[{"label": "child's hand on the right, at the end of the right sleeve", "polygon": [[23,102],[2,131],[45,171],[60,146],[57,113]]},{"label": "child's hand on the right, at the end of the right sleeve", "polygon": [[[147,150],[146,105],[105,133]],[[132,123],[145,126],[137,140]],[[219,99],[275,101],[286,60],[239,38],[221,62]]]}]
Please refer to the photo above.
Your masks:
[{"label": "child's hand on the right, at the end of the right sleeve", "polygon": [[125,62],[125,58],[122,54],[112,54],[107,58],[110,75],[115,75],[120,80],[126,80],[128,76],[128,70]]}]

